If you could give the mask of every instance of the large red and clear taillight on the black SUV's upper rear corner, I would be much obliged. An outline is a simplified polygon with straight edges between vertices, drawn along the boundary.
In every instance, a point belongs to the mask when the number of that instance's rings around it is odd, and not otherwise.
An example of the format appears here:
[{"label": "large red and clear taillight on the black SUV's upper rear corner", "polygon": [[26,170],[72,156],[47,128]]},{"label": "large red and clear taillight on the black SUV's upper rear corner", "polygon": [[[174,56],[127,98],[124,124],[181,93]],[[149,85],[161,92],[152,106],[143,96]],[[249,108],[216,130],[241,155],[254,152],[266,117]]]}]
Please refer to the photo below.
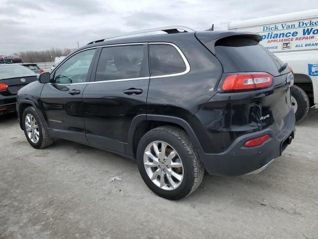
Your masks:
[{"label": "large red and clear taillight on the black SUV's upper rear corner", "polygon": [[224,91],[255,90],[268,88],[272,85],[273,77],[268,73],[235,74],[225,78]]}]

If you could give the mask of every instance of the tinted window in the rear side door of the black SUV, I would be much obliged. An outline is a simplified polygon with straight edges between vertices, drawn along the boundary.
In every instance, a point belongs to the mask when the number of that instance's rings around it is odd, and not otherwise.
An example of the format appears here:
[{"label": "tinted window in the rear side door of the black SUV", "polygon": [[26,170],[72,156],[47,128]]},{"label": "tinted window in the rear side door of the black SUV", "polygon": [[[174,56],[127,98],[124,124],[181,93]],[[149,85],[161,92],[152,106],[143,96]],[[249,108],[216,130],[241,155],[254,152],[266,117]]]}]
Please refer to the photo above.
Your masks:
[{"label": "tinted window in the rear side door of the black SUV", "polygon": [[148,65],[144,46],[114,46],[103,48],[99,57],[95,81],[110,81],[145,77]]}]

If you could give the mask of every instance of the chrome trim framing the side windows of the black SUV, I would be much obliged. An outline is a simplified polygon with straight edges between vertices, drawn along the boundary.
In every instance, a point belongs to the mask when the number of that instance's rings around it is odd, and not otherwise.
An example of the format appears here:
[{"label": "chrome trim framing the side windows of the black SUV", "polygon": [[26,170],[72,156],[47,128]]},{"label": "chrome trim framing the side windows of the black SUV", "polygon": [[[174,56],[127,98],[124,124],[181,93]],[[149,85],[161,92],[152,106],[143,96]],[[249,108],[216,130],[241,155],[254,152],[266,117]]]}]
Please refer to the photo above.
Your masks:
[{"label": "chrome trim framing the side windows of the black SUV", "polygon": [[[48,83],[48,84],[57,84],[57,85],[62,85],[62,86],[69,86],[69,85],[82,85],[82,84],[98,84],[98,83],[106,83],[106,82],[117,82],[117,81],[135,81],[135,80],[146,80],[146,79],[156,79],[156,78],[163,78],[163,77],[173,77],[173,76],[181,76],[184,74],[187,74],[190,71],[190,64],[187,60],[187,58],[184,56],[183,52],[180,50],[180,48],[175,45],[174,43],[170,43],[170,42],[136,42],[136,43],[119,43],[119,44],[110,44],[110,45],[100,45],[100,46],[92,46],[92,47],[87,47],[85,49],[79,50],[77,52],[74,52],[72,55],[66,57],[65,59],[63,59],[62,62],[60,62],[60,64],[53,70],[53,72],[51,73],[51,76],[55,75],[55,72],[57,69],[59,69],[60,66],[62,66],[62,64],[64,64],[65,61],[67,61],[69,58],[71,58],[72,56],[82,52],[82,51],[86,51],[86,50],[90,50],[90,49],[96,49],[96,52],[98,50],[98,48],[104,48],[104,47],[112,47],[112,46],[129,46],[129,45],[144,45],[144,44],[148,44],[148,45],[153,45],[153,44],[157,44],[157,45],[171,45],[173,46],[178,53],[180,54],[184,64],[185,64],[185,71],[184,72],[180,72],[180,73],[175,73],[175,74],[167,74],[167,75],[160,75],[160,76],[149,76],[149,77],[140,77],[140,78],[128,78],[128,79],[120,79],[120,80],[109,80],[109,81],[87,81],[87,82],[80,82],[80,83],[70,83],[70,84],[60,84],[60,83]],[[95,52],[95,53],[96,53]],[[149,57],[148,57],[149,60]],[[150,67],[150,66],[149,66]],[[151,69],[151,68],[149,68]]]}]

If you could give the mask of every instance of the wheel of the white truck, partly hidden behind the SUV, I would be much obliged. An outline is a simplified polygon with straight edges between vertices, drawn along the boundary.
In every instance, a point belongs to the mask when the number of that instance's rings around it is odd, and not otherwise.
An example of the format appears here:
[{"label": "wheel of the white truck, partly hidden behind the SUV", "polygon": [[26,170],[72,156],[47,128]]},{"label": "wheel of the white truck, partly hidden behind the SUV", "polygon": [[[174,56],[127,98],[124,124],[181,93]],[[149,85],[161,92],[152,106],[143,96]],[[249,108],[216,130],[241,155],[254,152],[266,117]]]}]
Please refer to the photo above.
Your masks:
[{"label": "wheel of the white truck, partly hidden behind the SUV", "polygon": [[292,105],[295,107],[294,109],[296,109],[296,122],[300,122],[308,114],[309,98],[302,88],[295,85],[292,86]]}]

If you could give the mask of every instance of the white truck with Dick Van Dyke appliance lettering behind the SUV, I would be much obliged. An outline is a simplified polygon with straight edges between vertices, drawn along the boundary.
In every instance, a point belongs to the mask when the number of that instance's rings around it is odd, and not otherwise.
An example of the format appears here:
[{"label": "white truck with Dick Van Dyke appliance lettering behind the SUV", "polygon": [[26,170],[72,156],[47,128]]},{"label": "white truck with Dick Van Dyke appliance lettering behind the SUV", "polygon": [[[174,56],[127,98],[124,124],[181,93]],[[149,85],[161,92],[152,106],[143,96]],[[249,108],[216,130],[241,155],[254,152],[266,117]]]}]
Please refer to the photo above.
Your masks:
[{"label": "white truck with Dick Van Dyke appliance lettering behind the SUV", "polygon": [[228,30],[260,34],[260,43],[288,63],[296,121],[304,119],[318,104],[318,9],[230,22]]}]

